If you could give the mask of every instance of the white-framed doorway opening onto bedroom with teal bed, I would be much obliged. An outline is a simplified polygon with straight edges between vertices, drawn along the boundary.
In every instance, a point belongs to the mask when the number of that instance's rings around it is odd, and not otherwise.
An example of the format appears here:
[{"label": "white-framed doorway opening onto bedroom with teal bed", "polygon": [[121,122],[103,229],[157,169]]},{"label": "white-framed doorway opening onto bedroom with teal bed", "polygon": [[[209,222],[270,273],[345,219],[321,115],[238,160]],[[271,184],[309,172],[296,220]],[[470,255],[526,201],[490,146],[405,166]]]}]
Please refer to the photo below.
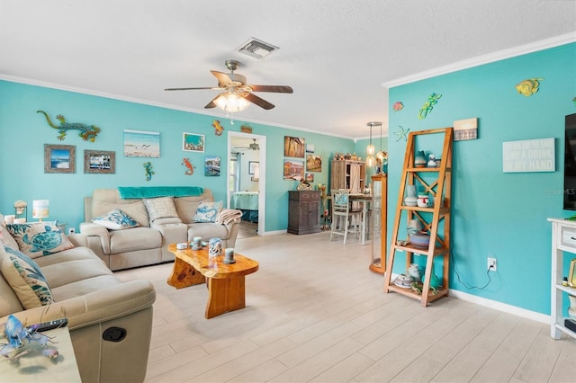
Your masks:
[{"label": "white-framed doorway opening onto bedroom with teal bed", "polygon": [[243,222],[256,220],[257,235],[265,235],[266,136],[228,132],[227,206],[243,210]]}]

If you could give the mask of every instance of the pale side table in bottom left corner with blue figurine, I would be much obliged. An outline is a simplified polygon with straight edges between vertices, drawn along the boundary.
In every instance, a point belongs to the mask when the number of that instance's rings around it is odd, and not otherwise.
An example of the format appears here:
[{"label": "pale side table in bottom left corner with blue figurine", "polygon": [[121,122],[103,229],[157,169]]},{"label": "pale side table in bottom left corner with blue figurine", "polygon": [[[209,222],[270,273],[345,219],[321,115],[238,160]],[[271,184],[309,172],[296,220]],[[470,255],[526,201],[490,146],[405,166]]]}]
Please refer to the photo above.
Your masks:
[{"label": "pale side table in bottom left corner with blue figurine", "polygon": [[41,352],[31,352],[14,362],[0,361],[0,380],[11,383],[82,382],[68,328],[60,327],[43,334],[57,342],[49,343],[49,348],[58,350],[58,358],[49,359]]}]

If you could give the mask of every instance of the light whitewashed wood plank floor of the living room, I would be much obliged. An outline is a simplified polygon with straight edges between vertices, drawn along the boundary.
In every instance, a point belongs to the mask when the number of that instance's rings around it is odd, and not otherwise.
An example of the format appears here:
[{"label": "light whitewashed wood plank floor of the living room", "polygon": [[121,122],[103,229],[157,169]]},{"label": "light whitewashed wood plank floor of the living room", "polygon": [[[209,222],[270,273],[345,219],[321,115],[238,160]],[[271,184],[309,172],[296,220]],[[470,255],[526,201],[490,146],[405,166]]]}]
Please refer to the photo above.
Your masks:
[{"label": "light whitewashed wood plank floor of the living room", "polygon": [[157,289],[146,381],[576,381],[576,340],[457,298],[425,308],[385,294],[354,239],[253,236],[236,249],[260,263],[247,307],[210,320],[204,285],[166,284],[172,263],[116,272]]}]

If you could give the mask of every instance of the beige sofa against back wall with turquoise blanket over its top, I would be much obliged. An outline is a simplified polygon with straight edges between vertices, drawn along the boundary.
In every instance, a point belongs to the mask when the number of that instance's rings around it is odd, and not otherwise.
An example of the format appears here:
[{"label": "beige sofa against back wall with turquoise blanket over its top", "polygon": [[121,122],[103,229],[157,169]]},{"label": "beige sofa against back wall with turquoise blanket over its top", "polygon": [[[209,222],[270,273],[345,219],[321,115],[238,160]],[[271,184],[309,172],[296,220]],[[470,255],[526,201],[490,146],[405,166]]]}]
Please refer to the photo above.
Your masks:
[{"label": "beige sofa against back wall with turquoise blanket over its top", "polygon": [[[146,202],[156,198],[123,199],[119,189],[96,189],[92,196],[85,198],[85,222],[80,224],[80,233],[87,237],[88,246],[112,271],[174,261],[174,254],[168,252],[167,245],[191,242],[194,236],[201,236],[205,241],[219,237],[224,247],[234,247],[240,218],[194,222],[199,205],[214,202],[210,189],[197,189],[201,191],[199,195],[156,197],[173,200],[175,213],[172,211],[172,214],[164,210],[151,211],[150,205],[154,204]],[[120,209],[138,226],[112,230],[92,222],[93,218],[102,217],[113,209]]]}]

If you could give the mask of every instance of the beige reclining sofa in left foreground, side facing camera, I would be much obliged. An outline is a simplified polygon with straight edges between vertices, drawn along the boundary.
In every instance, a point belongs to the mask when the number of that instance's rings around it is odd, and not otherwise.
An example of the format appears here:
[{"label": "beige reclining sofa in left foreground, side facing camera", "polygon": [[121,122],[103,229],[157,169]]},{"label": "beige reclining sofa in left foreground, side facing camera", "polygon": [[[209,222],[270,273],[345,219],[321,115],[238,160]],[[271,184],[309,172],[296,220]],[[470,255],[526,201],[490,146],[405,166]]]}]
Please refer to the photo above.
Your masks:
[{"label": "beige reclining sofa in left foreground, side facing camera", "polygon": [[[52,235],[58,230],[54,227]],[[66,316],[83,382],[143,381],[152,329],[152,304],[156,299],[153,285],[144,280],[119,280],[86,247],[85,236],[66,237],[61,231],[59,235],[74,247],[26,258],[26,254],[22,256],[20,252],[23,246],[8,233],[0,219],[0,324],[4,324],[9,315],[16,316],[25,325]],[[29,239],[30,236],[25,237],[26,241]],[[29,263],[24,269],[25,275],[17,266],[23,262]],[[31,270],[34,270],[32,275]],[[46,293],[49,291],[48,301],[45,296],[39,298],[36,292],[38,280],[49,286],[45,288]],[[121,329],[114,330],[114,334],[124,331],[125,338],[120,342],[103,340],[103,334],[114,327]],[[0,343],[4,341],[0,339]],[[55,344],[58,347],[58,343]]]}]

